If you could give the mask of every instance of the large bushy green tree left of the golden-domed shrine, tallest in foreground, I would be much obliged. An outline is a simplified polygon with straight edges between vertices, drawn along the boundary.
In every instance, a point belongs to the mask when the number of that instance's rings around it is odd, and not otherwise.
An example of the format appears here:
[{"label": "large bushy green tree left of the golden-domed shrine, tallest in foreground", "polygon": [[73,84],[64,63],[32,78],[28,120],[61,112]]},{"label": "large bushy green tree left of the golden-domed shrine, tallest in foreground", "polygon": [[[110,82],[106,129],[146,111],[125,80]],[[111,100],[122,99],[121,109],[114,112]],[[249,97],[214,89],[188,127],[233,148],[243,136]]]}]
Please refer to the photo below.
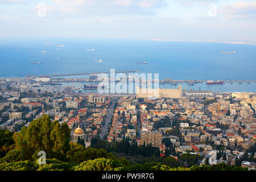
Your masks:
[{"label": "large bushy green tree left of the golden-domed shrine, tallest in foreground", "polygon": [[48,115],[43,115],[15,133],[14,142],[28,160],[37,159],[39,151],[45,151],[48,159],[65,159],[70,148],[69,138],[70,129],[66,123],[51,122]]}]

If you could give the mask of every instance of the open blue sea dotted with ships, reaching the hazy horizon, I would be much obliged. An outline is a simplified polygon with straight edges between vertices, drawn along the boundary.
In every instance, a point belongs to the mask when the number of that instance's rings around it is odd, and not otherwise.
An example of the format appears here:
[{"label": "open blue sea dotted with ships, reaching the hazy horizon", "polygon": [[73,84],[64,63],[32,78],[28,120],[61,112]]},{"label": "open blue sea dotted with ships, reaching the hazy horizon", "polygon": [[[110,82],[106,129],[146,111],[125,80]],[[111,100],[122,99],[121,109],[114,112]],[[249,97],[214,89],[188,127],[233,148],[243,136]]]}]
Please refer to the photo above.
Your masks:
[{"label": "open blue sea dotted with ships, reaching the hazy horizon", "polygon": [[[59,49],[59,45],[64,47]],[[237,53],[221,54],[232,51]],[[102,63],[94,62],[100,59]],[[147,64],[137,64],[139,61]],[[126,39],[0,39],[0,77],[109,72],[111,68],[159,73],[160,80],[256,80],[256,46]],[[83,77],[88,76],[72,76]],[[192,87],[213,92],[256,92],[255,82],[182,85],[186,89]],[[168,85],[160,86],[167,88]]]}]

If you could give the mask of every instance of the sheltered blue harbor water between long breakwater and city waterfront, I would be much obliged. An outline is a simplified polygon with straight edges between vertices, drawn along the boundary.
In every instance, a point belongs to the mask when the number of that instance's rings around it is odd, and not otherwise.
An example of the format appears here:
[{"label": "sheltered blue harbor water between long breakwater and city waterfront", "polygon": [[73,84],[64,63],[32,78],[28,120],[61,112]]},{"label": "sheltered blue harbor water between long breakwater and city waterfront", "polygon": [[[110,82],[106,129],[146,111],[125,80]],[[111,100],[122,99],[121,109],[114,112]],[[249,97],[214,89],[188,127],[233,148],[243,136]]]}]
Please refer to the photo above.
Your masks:
[{"label": "sheltered blue harbor water between long breakwater and city waterfront", "polygon": [[[31,78],[25,78],[30,80]],[[122,79],[115,80],[118,83]],[[110,78],[109,78],[110,81]],[[74,92],[82,93],[94,93],[97,92],[97,85],[101,80],[97,79],[97,74],[90,74],[86,78],[64,78],[55,77],[51,78],[49,82],[40,82],[41,86],[64,86],[71,87]],[[127,85],[130,80],[127,81]],[[142,79],[133,79],[133,85],[135,89],[135,82],[141,84]],[[152,83],[152,88],[155,84],[159,84],[159,88],[177,88],[182,86],[183,90],[211,90],[212,92],[255,92],[256,81],[255,80],[172,80],[170,78],[164,78],[162,80],[147,80],[147,84]],[[85,86],[86,85],[86,86]]]}]

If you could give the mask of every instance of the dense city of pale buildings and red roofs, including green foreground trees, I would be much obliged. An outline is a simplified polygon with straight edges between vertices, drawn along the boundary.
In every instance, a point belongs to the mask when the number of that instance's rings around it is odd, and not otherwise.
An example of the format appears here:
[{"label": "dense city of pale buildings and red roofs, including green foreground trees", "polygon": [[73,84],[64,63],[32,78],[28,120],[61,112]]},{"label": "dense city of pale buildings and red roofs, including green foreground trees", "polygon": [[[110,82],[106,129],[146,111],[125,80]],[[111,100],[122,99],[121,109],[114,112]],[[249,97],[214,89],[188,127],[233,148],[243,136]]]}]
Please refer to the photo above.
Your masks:
[{"label": "dense city of pale buildings and red roofs, including green foreground trees", "polygon": [[100,170],[108,163],[108,170],[255,170],[255,93],[179,86],[159,89],[161,97],[152,98],[61,86],[43,92],[40,84],[38,78],[1,78],[0,170],[36,169],[20,162],[32,163],[39,151],[47,159],[41,170],[90,170],[97,160],[106,160]]}]

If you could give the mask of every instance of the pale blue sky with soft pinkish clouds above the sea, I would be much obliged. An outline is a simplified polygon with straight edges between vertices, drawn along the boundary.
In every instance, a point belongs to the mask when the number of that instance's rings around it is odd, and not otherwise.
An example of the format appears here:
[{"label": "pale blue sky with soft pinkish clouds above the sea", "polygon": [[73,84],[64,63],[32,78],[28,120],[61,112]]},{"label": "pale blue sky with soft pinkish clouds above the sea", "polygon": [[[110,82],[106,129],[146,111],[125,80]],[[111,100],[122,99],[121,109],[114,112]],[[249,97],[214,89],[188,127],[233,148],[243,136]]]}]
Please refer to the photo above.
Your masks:
[{"label": "pale blue sky with soft pinkish clouds above the sea", "polygon": [[256,1],[0,0],[0,38],[256,43]]}]

